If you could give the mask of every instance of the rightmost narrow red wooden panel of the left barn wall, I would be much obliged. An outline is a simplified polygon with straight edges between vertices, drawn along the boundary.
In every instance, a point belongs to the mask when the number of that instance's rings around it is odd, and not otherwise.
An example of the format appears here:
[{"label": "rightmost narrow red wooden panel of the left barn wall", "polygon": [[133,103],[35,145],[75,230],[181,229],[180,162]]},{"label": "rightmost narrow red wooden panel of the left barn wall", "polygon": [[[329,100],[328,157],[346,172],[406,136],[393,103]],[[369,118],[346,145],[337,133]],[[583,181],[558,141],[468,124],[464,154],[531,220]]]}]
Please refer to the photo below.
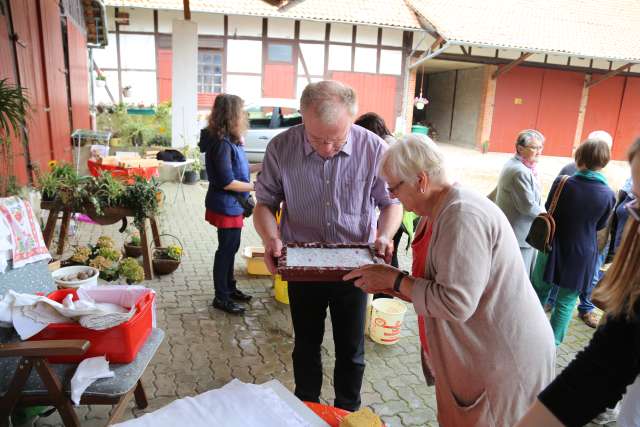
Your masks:
[{"label": "rightmost narrow red wooden panel of the left barn wall", "polygon": [[87,40],[73,21],[67,19],[69,81],[71,82],[71,118],[74,129],[90,129],[89,61]]}]

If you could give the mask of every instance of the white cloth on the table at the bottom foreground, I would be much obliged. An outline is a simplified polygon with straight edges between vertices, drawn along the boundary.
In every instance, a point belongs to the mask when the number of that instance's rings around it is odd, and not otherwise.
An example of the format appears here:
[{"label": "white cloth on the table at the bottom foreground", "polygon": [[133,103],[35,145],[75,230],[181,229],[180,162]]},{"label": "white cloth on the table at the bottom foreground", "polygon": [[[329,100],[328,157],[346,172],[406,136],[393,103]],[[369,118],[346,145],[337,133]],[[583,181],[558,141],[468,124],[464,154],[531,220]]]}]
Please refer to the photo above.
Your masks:
[{"label": "white cloth on the table at the bottom foreground", "polygon": [[[234,379],[195,397],[185,397],[150,414],[114,427],[310,427],[310,423],[271,388]],[[324,423],[320,425],[326,425]]]}]

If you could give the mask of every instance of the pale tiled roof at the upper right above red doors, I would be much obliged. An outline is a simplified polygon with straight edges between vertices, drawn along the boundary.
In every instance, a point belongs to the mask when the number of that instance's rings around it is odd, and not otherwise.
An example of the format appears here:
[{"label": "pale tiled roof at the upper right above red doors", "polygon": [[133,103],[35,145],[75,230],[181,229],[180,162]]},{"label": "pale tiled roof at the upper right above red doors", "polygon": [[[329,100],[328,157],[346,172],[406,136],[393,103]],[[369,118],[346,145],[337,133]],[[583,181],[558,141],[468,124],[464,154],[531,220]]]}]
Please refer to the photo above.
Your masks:
[{"label": "pale tiled roof at the upper right above red doors", "polygon": [[640,62],[638,0],[406,0],[445,40]]}]

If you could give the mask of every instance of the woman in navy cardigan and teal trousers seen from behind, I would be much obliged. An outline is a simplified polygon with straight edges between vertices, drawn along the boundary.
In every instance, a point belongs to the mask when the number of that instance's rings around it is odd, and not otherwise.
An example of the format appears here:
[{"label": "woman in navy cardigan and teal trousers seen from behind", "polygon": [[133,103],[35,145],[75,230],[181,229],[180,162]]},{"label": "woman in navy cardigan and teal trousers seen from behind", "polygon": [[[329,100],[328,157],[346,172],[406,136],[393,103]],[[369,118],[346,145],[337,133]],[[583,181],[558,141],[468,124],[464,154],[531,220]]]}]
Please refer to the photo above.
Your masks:
[{"label": "woman in navy cardigan and teal trousers seen from behind", "polygon": [[[543,305],[553,285],[559,287],[551,313],[556,345],[564,339],[578,295],[593,279],[598,256],[596,232],[606,226],[615,204],[615,195],[600,173],[609,158],[609,147],[599,140],[587,140],[576,150],[578,172],[566,181],[560,193],[553,214],[556,232],[551,252],[538,255],[531,277]],[[560,179],[556,178],[551,186],[547,210]]]}]

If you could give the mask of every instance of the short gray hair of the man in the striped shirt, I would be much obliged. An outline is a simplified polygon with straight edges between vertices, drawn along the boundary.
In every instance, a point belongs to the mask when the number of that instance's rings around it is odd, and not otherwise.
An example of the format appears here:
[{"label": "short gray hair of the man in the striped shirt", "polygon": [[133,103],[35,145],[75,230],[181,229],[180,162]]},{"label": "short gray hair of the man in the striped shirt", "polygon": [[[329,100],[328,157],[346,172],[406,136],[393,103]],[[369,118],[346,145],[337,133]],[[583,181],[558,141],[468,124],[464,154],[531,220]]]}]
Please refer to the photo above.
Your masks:
[{"label": "short gray hair of the man in the striped shirt", "polygon": [[336,122],[340,114],[340,106],[344,106],[354,117],[358,112],[355,91],[350,86],[335,80],[309,83],[300,97],[302,115],[304,116],[305,111],[314,109],[320,120],[327,124]]}]

